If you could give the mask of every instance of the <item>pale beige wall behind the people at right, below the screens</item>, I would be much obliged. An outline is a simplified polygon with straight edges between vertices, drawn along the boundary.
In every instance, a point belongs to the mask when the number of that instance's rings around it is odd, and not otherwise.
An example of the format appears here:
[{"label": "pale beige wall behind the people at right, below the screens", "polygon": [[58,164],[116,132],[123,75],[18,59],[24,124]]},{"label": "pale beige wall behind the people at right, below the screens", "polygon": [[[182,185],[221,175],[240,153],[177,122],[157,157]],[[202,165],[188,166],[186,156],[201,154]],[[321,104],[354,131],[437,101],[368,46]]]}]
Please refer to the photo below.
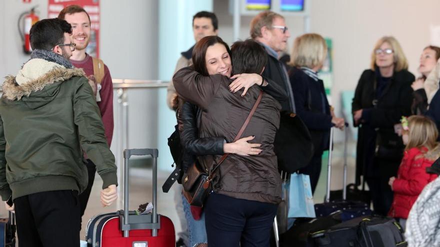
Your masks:
[{"label": "pale beige wall behind the people at right, below the screens", "polygon": [[[430,41],[430,25],[440,25],[438,0],[311,0],[310,31],[333,40],[333,104],[338,110],[341,90],[354,90],[361,72],[369,65],[376,40],[393,35],[400,42],[409,62],[409,71],[416,76],[422,49]],[[227,4],[214,1],[219,19],[219,36],[232,40],[232,16]],[[240,39],[249,37],[252,16],[241,17]],[[292,36],[303,32],[300,17],[286,16]],[[440,44],[437,44],[440,45]]]}]

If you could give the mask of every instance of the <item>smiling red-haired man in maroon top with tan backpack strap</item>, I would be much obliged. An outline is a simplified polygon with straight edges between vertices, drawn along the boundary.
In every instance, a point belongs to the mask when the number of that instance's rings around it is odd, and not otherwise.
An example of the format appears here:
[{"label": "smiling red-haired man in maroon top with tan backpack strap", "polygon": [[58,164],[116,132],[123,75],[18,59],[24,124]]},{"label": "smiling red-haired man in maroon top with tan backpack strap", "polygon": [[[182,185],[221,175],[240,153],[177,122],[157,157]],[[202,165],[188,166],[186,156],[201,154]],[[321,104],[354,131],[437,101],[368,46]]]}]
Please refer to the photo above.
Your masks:
[{"label": "smiling red-haired man in maroon top with tan backpack strap", "polygon": [[[58,18],[66,20],[72,26],[72,35],[70,37],[72,43],[76,44],[76,49],[72,52],[73,54],[70,57],[70,62],[73,66],[82,68],[89,80],[95,81],[93,74],[97,74],[98,71],[93,71],[92,57],[85,52],[85,48],[87,47],[90,38],[90,17],[82,7],[78,5],[69,5],[61,10]],[[108,146],[110,146],[111,138],[113,136],[113,84],[107,66],[103,66],[104,76],[100,82],[100,87],[97,85],[96,88],[93,88],[93,86],[92,88],[94,92],[97,92],[96,103],[101,112],[105,137]],[[93,83],[91,83],[91,85],[93,85]],[[96,173],[96,166],[89,159],[87,159],[87,170],[88,186],[87,189],[79,195],[81,217],[87,206],[88,197],[90,196],[94,175]]]}]

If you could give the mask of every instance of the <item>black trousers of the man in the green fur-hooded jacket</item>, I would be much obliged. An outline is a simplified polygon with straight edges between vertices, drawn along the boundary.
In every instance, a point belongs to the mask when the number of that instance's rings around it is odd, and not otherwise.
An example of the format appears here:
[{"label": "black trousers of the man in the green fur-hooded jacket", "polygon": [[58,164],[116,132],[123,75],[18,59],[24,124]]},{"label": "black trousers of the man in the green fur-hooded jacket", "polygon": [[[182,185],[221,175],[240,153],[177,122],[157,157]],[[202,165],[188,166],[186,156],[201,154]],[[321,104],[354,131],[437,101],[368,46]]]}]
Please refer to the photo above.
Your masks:
[{"label": "black trousers of the man in the green fur-hooded jacket", "polygon": [[78,247],[77,191],[48,191],[16,198],[19,247]]}]

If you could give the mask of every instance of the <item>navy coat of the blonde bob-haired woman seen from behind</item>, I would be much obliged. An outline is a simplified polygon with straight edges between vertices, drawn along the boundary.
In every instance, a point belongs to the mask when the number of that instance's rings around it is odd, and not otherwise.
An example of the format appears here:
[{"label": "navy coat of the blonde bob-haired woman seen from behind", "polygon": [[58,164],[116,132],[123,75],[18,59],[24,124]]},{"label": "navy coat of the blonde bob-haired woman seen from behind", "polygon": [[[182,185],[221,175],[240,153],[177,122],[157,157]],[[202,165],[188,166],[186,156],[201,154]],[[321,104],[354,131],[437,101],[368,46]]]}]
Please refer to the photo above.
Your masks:
[{"label": "navy coat of the blonde bob-haired woman seen from behind", "polygon": [[296,114],[307,126],[314,146],[314,156],[328,149],[331,123],[330,106],[322,80],[315,81],[301,69],[291,68],[289,80],[295,99]]}]

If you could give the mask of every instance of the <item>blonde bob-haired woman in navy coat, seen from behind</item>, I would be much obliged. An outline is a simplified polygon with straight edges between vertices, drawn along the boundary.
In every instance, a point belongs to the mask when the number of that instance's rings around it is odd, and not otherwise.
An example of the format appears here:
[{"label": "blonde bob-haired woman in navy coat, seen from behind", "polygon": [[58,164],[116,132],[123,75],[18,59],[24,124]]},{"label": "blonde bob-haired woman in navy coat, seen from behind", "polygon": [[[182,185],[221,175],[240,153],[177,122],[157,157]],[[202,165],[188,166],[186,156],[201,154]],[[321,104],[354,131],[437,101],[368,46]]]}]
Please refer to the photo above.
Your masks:
[{"label": "blonde bob-haired woman in navy coat, seen from behind", "polygon": [[321,35],[306,33],[293,43],[289,79],[295,100],[296,114],[310,131],[314,153],[309,164],[300,170],[310,176],[314,192],[321,172],[321,156],[328,149],[331,127],[343,129],[344,119],[335,117],[325,96],[324,83],[318,78],[327,55],[327,45]]}]

